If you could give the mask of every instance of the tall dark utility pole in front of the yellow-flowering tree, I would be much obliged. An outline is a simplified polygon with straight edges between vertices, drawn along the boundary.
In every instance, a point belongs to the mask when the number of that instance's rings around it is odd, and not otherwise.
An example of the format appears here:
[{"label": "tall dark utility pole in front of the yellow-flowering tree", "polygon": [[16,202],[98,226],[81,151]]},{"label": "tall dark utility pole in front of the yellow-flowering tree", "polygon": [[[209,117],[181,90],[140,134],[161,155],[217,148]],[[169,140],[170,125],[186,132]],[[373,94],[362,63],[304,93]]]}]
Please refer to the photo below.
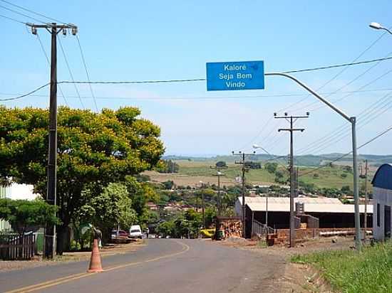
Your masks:
[{"label": "tall dark utility pole in front of the yellow-flowering tree", "polygon": [[[37,34],[37,28],[45,28],[51,33],[51,85],[49,99],[49,146],[48,146],[48,182],[46,189],[46,201],[56,207],[56,166],[57,166],[57,34],[61,31],[66,36],[67,29],[71,29],[73,36],[78,33],[77,26],[73,24],[33,24],[26,23],[31,27],[31,33]],[[55,211],[56,217],[56,211]],[[46,225],[44,257],[53,258],[56,252],[56,225]]]}]

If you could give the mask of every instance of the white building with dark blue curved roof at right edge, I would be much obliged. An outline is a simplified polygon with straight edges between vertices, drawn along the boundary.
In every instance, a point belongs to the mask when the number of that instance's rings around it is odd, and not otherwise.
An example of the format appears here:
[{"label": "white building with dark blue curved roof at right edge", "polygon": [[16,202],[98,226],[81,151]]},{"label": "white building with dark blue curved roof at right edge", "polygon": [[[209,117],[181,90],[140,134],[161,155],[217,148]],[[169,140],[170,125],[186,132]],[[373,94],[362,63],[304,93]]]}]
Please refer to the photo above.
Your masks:
[{"label": "white building with dark blue curved roof at right edge", "polygon": [[373,181],[373,237],[391,238],[392,165],[383,164],[374,174]]}]

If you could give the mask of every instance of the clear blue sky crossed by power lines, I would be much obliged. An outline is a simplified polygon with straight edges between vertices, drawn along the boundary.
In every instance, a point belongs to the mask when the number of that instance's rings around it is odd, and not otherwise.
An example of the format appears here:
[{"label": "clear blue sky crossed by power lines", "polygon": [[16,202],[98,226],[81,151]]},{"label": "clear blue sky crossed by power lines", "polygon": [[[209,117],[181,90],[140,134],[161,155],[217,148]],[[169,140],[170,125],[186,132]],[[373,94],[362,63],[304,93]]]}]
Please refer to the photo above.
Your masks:
[{"label": "clear blue sky crossed by power lines", "polygon": [[[12,0],[9,0],[12,1]],[[78,26],[91,80],[205,78],[205,63],[264,60],[265,72],[351,63],[392,55],[392,35],[368,27],[392,26],[392,2],[380,1],[12,1]],[[4,6],[26,16],[4,9]],[[22,22],[51,21],[0,1],[0,15]],[[0,16],[0,99],[29,92],[49,80],[50,34]],[[37,18],[31,19],[27,16]],[[75,36],[58,36],[58,80],[87,80]],[[391,73],[389,73],[391,70]],[[392,125],[392,60],[294,73],[349,116],[361,145]],[[88,85],[61,85],[58,104],[96,111]],[[264,90],[207,92],[206,82],[92,85],[98,110],[139,107],[161,127],[166,154],[210,156],[251,151],[289,152],[278,114],[305,114],[294,134],[294,154],[351,151],[346,120],[291,80],[269,76]],[[61,91],[66,99],[61,97]],[[81,102],[82,101],[82,102]],[[48,88],[7,107],[48,107]],[[391,108],[391,109],[390,109]],[[359,149],[392,154],[392,131]]]}]

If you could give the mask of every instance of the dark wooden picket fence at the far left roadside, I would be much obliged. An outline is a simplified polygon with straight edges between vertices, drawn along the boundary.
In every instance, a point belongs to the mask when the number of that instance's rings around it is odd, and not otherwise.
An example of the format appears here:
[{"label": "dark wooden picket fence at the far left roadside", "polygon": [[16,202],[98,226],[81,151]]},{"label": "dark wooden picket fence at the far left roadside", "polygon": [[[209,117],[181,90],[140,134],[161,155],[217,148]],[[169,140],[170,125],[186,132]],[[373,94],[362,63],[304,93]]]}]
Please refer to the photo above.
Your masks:
[{"label": "dark wooden picket fence at the far left roadside", "polygon": [[33,233],[0,233],[1,260],[31,260],[35,254],[36,241]]}]

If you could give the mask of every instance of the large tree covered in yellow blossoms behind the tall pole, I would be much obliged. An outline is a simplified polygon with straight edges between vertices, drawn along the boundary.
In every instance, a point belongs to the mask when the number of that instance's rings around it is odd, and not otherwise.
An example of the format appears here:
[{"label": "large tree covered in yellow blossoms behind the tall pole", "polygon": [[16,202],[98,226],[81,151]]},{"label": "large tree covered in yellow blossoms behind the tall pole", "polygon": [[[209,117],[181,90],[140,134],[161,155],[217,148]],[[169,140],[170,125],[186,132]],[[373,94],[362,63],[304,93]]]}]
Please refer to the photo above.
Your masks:
[{"label": "large tree covered in yellow blossoms behind the tall pole", "polygon": [[[57,203],[62,225],[57,252],[63,252],[68,225],[108,183],[153,169],[163,154],[159,127],[138,118],[140,110],[58,109]],[[46,196],[48,110],[0,107],[0,180],[33,184]]]}]

